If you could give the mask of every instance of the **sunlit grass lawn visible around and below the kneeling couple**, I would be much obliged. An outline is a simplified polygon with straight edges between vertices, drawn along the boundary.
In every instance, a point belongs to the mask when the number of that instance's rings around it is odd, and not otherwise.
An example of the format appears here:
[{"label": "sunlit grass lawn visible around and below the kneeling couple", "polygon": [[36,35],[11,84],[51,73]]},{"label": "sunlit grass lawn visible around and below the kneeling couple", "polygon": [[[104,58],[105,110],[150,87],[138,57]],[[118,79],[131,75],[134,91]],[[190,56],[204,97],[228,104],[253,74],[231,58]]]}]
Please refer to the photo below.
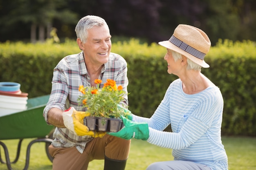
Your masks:
[{"label": "sunlit grass lawn visible around and below the kneeling couple", "polygon": [[[20,159],[12,164],[13,170],[22,170],[25,167],[27,144],[32,139],[22,141]],[[11,161],[15,159],[18,140],[2,140],[7,145]],[[229,170],[256,170],[256,137],[222,137],[222,142],[229,159]],[[5,160],[3,148],[0,146],[1,157]],[[146,141],[132,139],[130,155],[126,170],[145,170],[156,161],[173,160],[171,150],[151,145]],[[103,170],[103,160],[94,160],[88,170]],[[45,152],[45,143],[35,143],[31,147],[28,170],[51,170],[52,163]],[[7,170],[5,164],[0,163],[0,170]]]}]

